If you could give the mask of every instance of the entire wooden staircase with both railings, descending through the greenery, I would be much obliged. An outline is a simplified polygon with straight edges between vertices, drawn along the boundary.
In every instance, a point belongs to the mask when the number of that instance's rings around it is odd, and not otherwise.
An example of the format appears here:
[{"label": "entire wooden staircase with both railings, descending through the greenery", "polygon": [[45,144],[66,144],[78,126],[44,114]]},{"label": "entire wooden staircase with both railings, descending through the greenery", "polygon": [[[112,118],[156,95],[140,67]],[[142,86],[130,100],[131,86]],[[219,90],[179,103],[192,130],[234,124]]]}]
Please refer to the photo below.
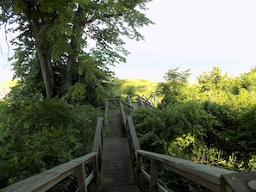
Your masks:
[{"label": "entire wooden staircase with both railings, descending through the greenery", "polygon": [[[137,98],[137,102],[132,101],[132,97]],[[109,105],[109,102],[116,102],[119,107],[115,103]],[[138,103],[138,105],[134,103]],[[254,191],[255,172],[225,170],[220,167],[141,150],[134,122],[129,115],[130,111],[136,107],[152,108],[153,104],[137,95],[128,96],[128,103],[116,98],[107,100],[105,108],[106,120],[109,120],[107,123],[109,134],[107,137],[105,136],[106,125],[103,117],[98,117],[90,153],[11,184],[0,189],[0,192],[47,191],[60,181],[65,182],[64,179],[72,174],[76,175],[78,182],[76,191],[94,191],[95,182],[99,178],[99,170],[102,170],[103,178],[109,181],[108,186],[102,190],[103,192],[140,192],[134,181],[132,162],[137,168],[136,177],[144,177],[148,181],[148,188],[145,189],[150,192],[169,191],[158,183],[160,168],[176,172],[211,191]],[[109,108],[115,109],[109,110]],[[126,134],[122,132],[122,125],[125,125]],[[144,161],[145,159],[147,161]],[[143,166],[140,166],[141,164],[150,167],[150,171],[144,170]],[[85,171],[87,165],[92,165],[91,171]],[[141,190],[144,189],[141,188]]]}]

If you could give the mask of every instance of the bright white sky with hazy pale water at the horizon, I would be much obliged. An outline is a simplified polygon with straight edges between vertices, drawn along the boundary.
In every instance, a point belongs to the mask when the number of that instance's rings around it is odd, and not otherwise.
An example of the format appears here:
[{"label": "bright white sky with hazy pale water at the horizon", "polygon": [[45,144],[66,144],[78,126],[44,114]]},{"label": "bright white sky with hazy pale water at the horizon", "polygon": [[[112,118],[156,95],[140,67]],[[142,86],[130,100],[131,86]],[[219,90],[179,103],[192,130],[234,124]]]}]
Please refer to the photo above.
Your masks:
[{"label": "bright white sky with hazy pale water at the horizon", "polygon": [[[110,67],[119,78],[162,81],[165,72],[190,69],[190,81],[214,65],[229,76],[256,66],[255,0],[153,0],[144,11],[155,24],[140,28],[145,40],[126,40],[125,64]],[[0,79],[11,77],[1,28]],[[10,39],[10,37],[8,37]]]}]

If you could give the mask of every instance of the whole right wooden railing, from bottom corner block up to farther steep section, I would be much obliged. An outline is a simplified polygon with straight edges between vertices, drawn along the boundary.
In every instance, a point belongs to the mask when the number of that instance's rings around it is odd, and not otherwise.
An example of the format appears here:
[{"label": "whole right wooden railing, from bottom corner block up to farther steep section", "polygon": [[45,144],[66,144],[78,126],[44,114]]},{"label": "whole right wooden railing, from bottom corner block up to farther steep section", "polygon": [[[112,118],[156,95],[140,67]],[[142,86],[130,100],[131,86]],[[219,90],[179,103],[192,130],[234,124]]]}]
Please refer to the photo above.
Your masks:
[{"label": "whole right wooden railing, from bottom corner block up to farther steep section", "polygon": [[[207,164],[198,164],[182,158],[173,158],[155,152],[140,150],[134,122],[131,116],[126,115],[122,102],[120,108],[122,113],[123,127],[125,129],[130,146],[131,159],[134,166],[136,181],[140,186],[140,176],[145,177],[149,183],[149,192],[167,192],[158,182],[159,169],[170,170],[178,175],[188,178],[195,183],[212,191],[253,191],[248,188],[247,183],[255,180],[256,172],[238,173],[234,170],[226,170]],[[141,166],[148,162],[150,170],[147,172]],[[256,182],[253,184],[255,185]],[[253,185],[252,184],[252,185]]]}]

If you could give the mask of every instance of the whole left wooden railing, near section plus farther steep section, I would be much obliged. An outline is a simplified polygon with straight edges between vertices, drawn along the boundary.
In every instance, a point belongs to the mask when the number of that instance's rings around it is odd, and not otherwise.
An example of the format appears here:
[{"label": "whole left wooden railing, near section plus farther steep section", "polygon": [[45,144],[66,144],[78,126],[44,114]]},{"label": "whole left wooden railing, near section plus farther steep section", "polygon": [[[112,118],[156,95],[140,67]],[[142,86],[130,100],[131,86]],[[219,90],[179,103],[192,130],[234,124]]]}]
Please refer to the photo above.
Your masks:
[{"label": "whole left wooden railing, near section plus farther steep section", "polygon": [[[103,118],[97,119],[97,128],[95,133],[92,152],[80,158],[73,159],[65,164],[53,167],[50,170],[43,171],[33,177],[28,177],[18,183],[9,185],[1,192],[28,192],[28,191],[46,191],[52,188],[66,177],[76,174],[79,192],[86,192],[88,185],[92,180],[97,180],[98,169],[100,169],[103,145]],[[90,174],[85,174],[84,165],[93,164]],[[99,166],[98,166],[99,165]]]}]

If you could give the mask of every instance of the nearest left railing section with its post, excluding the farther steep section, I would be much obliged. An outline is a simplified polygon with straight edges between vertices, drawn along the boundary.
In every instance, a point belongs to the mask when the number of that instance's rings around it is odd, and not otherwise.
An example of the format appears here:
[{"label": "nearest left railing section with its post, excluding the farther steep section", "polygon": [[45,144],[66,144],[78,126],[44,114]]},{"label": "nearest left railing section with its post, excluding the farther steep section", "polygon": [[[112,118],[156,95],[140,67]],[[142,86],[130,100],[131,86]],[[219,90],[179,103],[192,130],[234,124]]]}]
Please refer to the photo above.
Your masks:
[{"label": "nearest left railing section with its post, excluding the farther steep section", "polygon": [[78,191],[87,191],[87,186],[91,183],[92,178],[96,178],[96,167],[88,177],[85,176],[84,164],[93,162],[97,164],[97,152],[91,152],[83,157],[73,159],[66,164],[60,164],[50,170],[41,172],[33,177],[28,177],[18,183],[9,185],[0,191],[4,192],[28,192],[28,191],[46,191],[52,188],[56,183],[59,183],[66,177],[76,173],[78,180]]}]

